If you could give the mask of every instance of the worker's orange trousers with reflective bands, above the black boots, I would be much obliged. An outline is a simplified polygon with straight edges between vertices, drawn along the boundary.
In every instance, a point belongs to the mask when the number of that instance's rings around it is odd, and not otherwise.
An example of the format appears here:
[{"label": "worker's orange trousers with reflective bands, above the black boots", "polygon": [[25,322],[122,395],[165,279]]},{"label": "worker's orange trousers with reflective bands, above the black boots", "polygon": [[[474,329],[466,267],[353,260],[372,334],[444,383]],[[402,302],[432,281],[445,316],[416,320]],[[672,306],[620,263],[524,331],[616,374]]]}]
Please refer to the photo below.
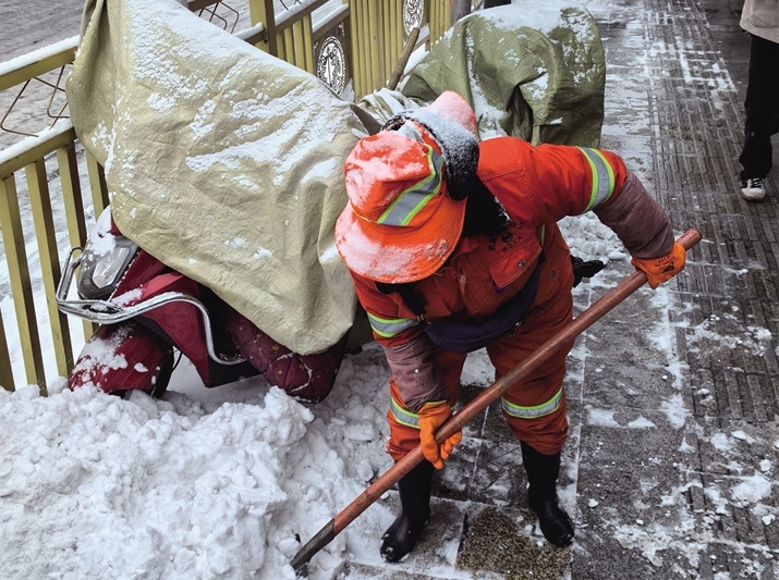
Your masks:
[{"label": "worker's orange trousers with reflective bands, above the black boots", "polygon": [[[533,308],[521,325],[486,347],[495,367],[496,380],[521,363],[573,319],[573,271],[568,246],[560,236],[559,242],[545,251],[547,256],[540,264],[538,293]],[[544,455],[558,453],[568,437],[565,392],[562,382],[565,375],[565,357],[573,347],[573,342],[574,338],[503,394],[503,417],[509,427],[520,441]],[[453,407],[460,396],[460,375],[466,355],[436,347],[435,356],[446,378],[449,404]],[[411,412],[405,408],[394,378],[391,377],[389,382],[390,396],[401,409]],[[553,411],[534,418],[521,418],[507,411],[512,405],[537,408],[552,400],[559,400]],[[388,411],[387,419],[390,427],[387,453],[398,461],[418,445],[419,430],[398,422],[392,410]]]}]

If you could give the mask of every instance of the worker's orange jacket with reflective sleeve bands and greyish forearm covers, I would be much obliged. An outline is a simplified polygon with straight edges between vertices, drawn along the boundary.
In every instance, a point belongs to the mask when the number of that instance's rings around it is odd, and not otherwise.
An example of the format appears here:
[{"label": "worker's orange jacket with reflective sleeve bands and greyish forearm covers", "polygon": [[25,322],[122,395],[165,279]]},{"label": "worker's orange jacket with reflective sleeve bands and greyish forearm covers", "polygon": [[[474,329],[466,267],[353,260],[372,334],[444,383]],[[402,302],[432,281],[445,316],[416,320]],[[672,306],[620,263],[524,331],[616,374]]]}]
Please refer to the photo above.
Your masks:
[{"label": "worker's orange jacket with reflective sleeve bands and greyish forearm covers", "polygon": [[[541,249],[547,257],[545,270],[570,269],[567,251],[549,251],[559,244],[567,249],[556,223],[569,215],[594,210],[636,258],[664,256],[673,246],[666,212],[616,153],[562,145],[535,147],[498,137],[479,144],[478,176],[503,206],[512,226],[497,237],[461,238],[436,274],[414,283],[427,322],[466,323],[489,317],[524,287]],[[549,263],[550,257],[559,263]],[[431,359],[426,353],[431,343],[422,340],[423,321],[400,294],[382,294],[374,281],[352,276],[406,407],[416,411],[427,400],[446,399],[440,372],[419,368],[421,360]]]}]

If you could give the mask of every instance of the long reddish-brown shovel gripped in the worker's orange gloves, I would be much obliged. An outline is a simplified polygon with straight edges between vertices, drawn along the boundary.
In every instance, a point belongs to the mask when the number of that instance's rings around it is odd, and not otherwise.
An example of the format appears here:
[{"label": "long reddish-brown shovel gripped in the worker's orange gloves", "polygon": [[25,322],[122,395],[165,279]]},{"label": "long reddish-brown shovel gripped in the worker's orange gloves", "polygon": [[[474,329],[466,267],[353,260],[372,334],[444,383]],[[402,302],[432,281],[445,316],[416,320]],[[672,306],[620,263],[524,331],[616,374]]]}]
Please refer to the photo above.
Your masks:
[{"label": "long reddish-brown shovel gripped in the worker's orange gloves", "polygon": [[[677,242],[685,250],[692,248],[701,240],[701,232],[696,229],[687,230]],[[573,322],[549,338],[536,351],[530,355],[520,365],[506,375],[501,377],[491,386],[485,388],[476,398],[453,415],[436,433],[436,441],[442,443],[460,431],[468,421],[479,415],[490,404],[497,400],[523,375],[543,365],[550,356],[557,353],[571,338],[579,336],[596,320],[633,294],[646,282],[646,274],[641,271],[633,272],[629,277],[611,288],[602,298],[579,314]],[[387,490],[394,485],[403,476],[423,461],[422,447],[414,447],[403,459],[387,470],[387,472],[372,483],[367,490],[360,494],[340,514],[331,519],[314,538],[312,538],[292,558],[291,565],[299,577],[308,576],[308,563],[322,547],[329,544],[346,526],[365,511],[370,504],[376,502]]]}]

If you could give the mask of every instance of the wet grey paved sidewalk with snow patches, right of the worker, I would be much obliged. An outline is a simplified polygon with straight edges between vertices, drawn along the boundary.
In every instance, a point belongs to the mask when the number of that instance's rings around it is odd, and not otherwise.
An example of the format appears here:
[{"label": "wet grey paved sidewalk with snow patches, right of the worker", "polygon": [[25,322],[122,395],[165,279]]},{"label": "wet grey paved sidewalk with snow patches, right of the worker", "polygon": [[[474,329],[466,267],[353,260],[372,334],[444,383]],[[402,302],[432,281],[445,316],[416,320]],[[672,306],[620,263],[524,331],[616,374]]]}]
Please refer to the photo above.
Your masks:
[{"label": "wet grey paved sidewalk with snow patches, right of the worker", "polygon": [[[607,50],[601,146],[677,235],[694,226],[703,240],[670,292],[641,289],[569,357],[560,495],[576,541],[539,542],[519,445],[491,408],[434,484],[417,550],[393,566],[356,555],[342,578],[779,578],[779,156],[766,201],[742,200],[741,3],[585,4]],[[576,309],[629,273],[577,288]]]}]

